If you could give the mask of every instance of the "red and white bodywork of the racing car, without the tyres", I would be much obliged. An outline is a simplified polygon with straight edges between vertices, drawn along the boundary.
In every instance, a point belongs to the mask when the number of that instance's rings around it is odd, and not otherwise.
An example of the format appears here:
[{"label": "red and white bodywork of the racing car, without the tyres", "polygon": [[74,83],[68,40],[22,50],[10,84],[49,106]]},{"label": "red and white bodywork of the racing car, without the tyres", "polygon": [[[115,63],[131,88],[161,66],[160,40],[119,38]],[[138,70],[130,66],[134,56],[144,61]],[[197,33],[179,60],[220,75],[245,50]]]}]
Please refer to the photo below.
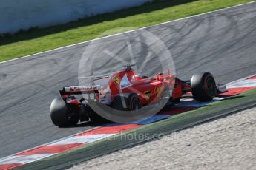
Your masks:
[{"label": "red and white bodywork of the racing car, without the tyres", "polygon": [[[94,78],[94,81],[100,81],[104,76]],[[95,83],[94,83],[95,84]],[[134,92],[140,98],[140,103],[146,105],[148,103],[157,103],[163,97],[163,92],[168,92],[168,97],[171,100],[180,99],[185,93],[191,92],[190,84],[186,81],[181,81],[175,75],[169,72],[167,75],[157,73],[152,77],[142,77],[134,72],[134,69],[128,68],[119,72],[114,72],[108,76],[108,81],[105,85],[98,86],[74,86],[65,87],[60,91],[62,98],[70,104],[78,105],[79,100],[74,98],[74,94],[94,93],[96,101],[106,100],[106,95],[109,96],[109,102],[114,100],[116,95],[127,92]],[[69,100],[67,100],[69,98]]]}]

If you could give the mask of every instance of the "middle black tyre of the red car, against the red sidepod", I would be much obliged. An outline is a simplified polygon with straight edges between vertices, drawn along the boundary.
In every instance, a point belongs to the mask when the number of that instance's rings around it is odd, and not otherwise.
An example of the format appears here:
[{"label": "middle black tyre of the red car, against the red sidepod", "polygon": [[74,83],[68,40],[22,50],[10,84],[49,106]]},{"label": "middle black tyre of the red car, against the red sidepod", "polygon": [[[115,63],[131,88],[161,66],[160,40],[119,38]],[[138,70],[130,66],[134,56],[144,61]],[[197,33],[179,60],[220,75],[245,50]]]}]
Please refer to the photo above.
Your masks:
[{"label": "middle black tyre of the red car, against the red sidepod", "polygon": [[134,92],[116,95],[112,106],[121,111],[134,111],[142,107],[139,96]]}]

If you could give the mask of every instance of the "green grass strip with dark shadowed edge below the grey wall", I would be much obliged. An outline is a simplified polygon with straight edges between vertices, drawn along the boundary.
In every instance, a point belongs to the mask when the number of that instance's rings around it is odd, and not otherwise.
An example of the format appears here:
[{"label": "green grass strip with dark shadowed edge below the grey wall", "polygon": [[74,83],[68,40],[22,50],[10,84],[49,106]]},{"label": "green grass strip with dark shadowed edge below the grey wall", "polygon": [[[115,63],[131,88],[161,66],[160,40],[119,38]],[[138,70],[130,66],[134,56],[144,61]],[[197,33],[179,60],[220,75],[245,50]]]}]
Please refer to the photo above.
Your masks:
[{"label": "green grass strip with dark shadowed edge below the grey wall", "polygon": [[[6,35],[0,38],[0,61],[91,40],[116,27],[130,27],[116,31],[123,32],[131,29],[131,27],[150,26],[249,1],[252,0],[154,1],[141,7],[132,7],[114,13],[84,18],[69,24],[22,31],[15,35]],[[111,32],[108,35],[114,33]]]}]

